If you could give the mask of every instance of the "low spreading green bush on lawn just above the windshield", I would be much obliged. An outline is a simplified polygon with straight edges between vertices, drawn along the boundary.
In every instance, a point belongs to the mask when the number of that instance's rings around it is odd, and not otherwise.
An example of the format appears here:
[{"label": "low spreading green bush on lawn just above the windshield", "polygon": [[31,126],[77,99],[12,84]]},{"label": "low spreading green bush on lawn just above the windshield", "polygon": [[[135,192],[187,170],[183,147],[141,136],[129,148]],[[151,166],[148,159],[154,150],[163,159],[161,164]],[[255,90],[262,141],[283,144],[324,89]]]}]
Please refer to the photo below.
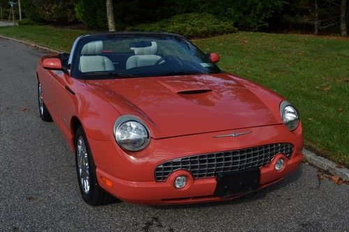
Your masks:
[{"label": "low spreading green bush on lawn just above the windshield", "polygon": [[230,22],[218,20],[208,13],[188,13],[151,24],[129,26],[126,31],[162,31],[177,33],[187,38],[204,38],[233,33],[237,29]]}]

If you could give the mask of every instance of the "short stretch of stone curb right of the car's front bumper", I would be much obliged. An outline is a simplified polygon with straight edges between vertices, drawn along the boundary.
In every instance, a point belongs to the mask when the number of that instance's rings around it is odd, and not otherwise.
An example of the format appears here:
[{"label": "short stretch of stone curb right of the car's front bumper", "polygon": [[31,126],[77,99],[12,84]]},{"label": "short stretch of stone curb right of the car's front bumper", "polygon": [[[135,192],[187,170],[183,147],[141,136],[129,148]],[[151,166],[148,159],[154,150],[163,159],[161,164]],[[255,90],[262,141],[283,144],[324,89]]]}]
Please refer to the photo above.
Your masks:
[{"label": "short stretch of stone curb right of the car's front bumper", "polygon": [[309,162],[309,164],[312,164],[319,169],[328,171],[334,176],[339,176],[345,181],[349,181],[349,169],[340,169],[334,162],[329,161],[324,157],[318,156],[315,153],[312,153],[310,150],[303,149],[302,151],[304,154],[304,160],[306,162]]}]

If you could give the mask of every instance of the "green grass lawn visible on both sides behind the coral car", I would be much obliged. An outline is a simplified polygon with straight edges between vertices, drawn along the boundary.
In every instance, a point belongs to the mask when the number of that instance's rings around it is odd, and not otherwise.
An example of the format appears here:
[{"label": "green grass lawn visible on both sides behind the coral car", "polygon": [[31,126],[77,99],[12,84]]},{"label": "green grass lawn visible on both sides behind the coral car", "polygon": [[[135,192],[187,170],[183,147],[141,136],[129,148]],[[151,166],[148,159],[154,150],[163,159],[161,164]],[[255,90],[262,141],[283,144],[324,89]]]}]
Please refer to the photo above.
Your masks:
[{"label": "green grass lawn visible on both sides behind the coral car", "polygon": [[[81,33],[49,26],[1,27],[0,34],[69,51]],[[285,96],[300,112],[305,145],[349,167],[349,40],[239,32],[193,40],[219,52],[219,66]]]}]

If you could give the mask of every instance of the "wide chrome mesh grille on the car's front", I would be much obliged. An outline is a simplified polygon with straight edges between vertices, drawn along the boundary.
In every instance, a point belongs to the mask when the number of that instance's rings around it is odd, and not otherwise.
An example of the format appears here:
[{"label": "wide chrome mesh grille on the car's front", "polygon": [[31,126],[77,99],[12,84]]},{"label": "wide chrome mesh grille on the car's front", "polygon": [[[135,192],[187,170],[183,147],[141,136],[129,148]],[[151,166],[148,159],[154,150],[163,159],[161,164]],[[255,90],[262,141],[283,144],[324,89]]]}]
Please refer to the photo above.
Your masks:
[{"label": "wide chrome mesh grille on the car's front", "polygon": [[293,153],[292,144],[269,144],[169,160],[156,167],[155,179],[165,181],[173,171],[179,169],[190,171],[194,178],[209,178],[221,172],[265,167],[278,153],[289,159]]}]

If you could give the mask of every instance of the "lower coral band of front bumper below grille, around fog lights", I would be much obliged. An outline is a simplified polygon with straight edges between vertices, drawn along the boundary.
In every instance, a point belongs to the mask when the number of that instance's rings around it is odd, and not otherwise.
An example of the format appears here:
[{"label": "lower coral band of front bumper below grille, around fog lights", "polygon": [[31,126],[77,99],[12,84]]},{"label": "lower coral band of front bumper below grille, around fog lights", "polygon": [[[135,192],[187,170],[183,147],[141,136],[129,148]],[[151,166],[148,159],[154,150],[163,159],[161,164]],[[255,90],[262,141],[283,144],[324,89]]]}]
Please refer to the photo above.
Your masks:
[{"label": "lower coral band of front bumper below grille, around fog lights", "polygon": [[[294,172],[302,163],[303,154],[295,154],[290,160],[287,160],[285,168],[281,171],[274,169],[274,159],[268,167],[260,169],[260,189],[272,185]],[[188,174],[186,171],[175,171],[165,182],[136,182],[131,180],[121,180],[114,176],[110,176],[101,169],[97,169],[98,180],[103,176],[112,181],[113,186],[109,187],[100,181],[103,187],[110,194],[117,198],[131,203],[145,205],[163,205],[163,204],[180,204],[180,203],[202,203],[209,201],[226,201],[237,198],[241,195],[231,196],[227,198],[219,198],[214,196],[216,189],[216,178],[195,179],[189,183],[189,187],[185,190],[177,190],[173,186],[174,178]]]}]

